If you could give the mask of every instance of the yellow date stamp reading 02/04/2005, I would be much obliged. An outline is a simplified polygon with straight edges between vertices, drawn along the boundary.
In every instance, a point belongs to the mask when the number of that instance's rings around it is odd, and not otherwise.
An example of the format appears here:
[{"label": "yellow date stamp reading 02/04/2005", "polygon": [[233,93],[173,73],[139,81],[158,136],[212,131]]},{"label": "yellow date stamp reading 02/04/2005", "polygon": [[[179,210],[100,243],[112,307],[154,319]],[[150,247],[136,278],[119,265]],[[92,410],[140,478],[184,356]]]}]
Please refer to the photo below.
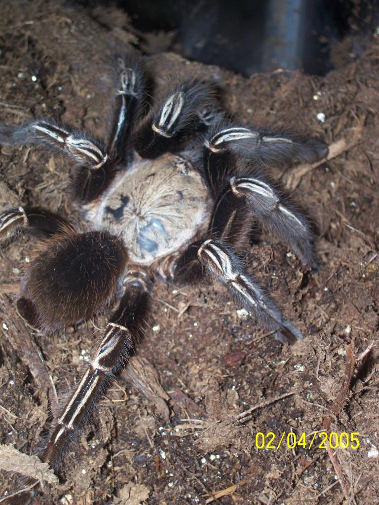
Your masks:
[{"label": "yellow date stamp reading 02/04/2005", "polygon": [[303,433],[294,433],[293,431],[283,431],[276,434],[273,431],[262,433],[258,431],[255,435],[255,447],[257,449],[274,449],[278,450],[280,447],[288,449],[296,449],[302,447],[303,449],[310,449],[311,447],[317,449],[358,449],[359,447],[359,433],[353,431],[351,433],[342,432],[336,433],[332,431],[316,431],[307,435]]}]

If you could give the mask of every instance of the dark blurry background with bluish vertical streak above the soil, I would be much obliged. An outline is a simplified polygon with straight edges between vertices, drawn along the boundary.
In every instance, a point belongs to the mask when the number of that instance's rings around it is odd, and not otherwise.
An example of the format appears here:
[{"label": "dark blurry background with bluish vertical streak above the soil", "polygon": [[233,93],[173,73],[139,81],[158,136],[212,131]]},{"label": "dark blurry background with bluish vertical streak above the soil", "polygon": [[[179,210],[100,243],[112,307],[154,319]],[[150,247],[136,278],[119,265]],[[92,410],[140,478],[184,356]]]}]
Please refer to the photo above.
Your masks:
[{"label": "dark blurry background with bluish vertical streak above the soil", "polygon": [[142,36],[166,32],[169,51],[245,76],[276,69],[325,75],[362,56],[378,36],[379,0],[118,0],[116,5]]}]

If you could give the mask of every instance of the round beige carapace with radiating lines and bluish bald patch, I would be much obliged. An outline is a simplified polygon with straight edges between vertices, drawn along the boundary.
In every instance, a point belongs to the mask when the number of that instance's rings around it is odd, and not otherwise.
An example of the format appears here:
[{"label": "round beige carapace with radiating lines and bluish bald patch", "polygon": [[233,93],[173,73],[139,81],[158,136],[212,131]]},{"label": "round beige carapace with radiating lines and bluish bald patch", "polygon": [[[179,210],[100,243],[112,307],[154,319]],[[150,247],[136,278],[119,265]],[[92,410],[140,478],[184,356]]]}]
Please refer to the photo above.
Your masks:
[{"label": "round beige carapace with radiating lines and bluish bald patch", "polygon": [[87,218],[119,236],[130,260],[150,265],[191,239],[207,222],[208,191],[187,160],[164,155],[137,161]]}]

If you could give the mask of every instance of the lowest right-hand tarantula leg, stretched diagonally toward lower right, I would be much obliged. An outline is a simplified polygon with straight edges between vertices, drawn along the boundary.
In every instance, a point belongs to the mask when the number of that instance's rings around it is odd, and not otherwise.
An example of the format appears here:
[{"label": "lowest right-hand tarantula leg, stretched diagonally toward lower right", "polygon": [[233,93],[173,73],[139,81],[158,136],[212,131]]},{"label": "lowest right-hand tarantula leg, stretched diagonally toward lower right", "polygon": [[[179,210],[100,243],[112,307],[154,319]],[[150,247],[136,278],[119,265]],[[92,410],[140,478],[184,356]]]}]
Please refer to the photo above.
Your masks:
[{"label": "lowest right-hand tarantula leg, stretched diagonally toward lower right", "polygon": [[246,272],[234,252],[221,240],[199,240],[185,249],[173,267],[175,280],[194,282],[208,275],[224,284],[238,304],[253,312],[281,342],[303,338],[295,326],[283,319],[273,300]]}]

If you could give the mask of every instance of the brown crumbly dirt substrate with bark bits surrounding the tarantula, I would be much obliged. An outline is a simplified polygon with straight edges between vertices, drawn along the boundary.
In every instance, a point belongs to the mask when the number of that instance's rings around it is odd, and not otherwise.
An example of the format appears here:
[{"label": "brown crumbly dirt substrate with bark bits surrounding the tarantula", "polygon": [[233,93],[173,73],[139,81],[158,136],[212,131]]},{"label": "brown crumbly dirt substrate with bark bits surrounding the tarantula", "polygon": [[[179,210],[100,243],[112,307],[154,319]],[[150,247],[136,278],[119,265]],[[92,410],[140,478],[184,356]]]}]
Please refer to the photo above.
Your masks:
[{"label": "brown crumbly dirt substrate with bark bits surrounding the tarantula", "polygon": [[[129,26],[115,9],[2,2],[0,123],[61,117],[104,135],[109,56],[130,43],[152,55],[158,87],[183,75],[212,79],[241,122],[286,124],[333,144],[336,156],[325,163],[272,168],[318,223],[320,273],[269,238],[246,252],[249,271],[306,336],[291,347],[254,318],[240,318],[222,288],[157,282],[138,359],[79,435],[61,483],[35,503],[378,503],[379,44],[324,78],[245,79],[165,53],[167,37]],[[75,216],[67,160],[40,147],[3,146],[0,164],[2,209],[41,205]],[[48,432],[49,408],[57,414],[52,384],[60,398],[68,394],[106,320],[49,335],[20,321],[17,286],[35,243],[19,237],[0,258],[1,442],[27,455]],[[309,449],[317,430],[358,432],[360,446],[319,449],[316,438]],[[306,433],[306,447],[286,447],[291,431]],[[273,445],[286,437],[277,450],[258,449],[257,432],[275,433]],[[10,462],[20,465],[18,457]],[[2,496],[19,485],[12,472],[0,480]]]}]

